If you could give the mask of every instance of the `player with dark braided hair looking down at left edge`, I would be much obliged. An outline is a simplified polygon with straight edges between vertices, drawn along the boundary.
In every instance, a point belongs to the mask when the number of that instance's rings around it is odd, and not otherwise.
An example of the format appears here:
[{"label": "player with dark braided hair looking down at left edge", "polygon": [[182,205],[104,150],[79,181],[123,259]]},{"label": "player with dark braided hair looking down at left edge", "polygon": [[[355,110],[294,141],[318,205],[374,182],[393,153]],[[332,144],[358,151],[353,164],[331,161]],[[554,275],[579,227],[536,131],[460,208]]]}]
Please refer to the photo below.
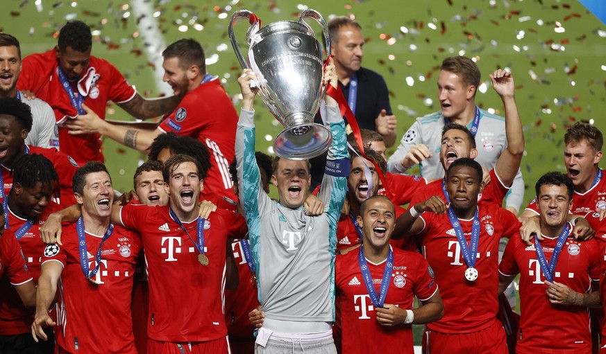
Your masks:
[{"label": "player with dark braided hair looking down at left edge", "polygon": [[[40,277],[40,263],[46,247],[40,240],[40,227],[50,213],[62,209],[51,200],[57,180],[57,172],[49,159],[39,154],[23,155],[15,162],[12,189],[2,202],[6,220],[4,227],[10,229],[19,242],[34,283]],[[34,319],[31,310],[21,305],[18,293],[8,282],[0,283],[0,292],[3,294],[0,300],[0,347],[6,353],[53,353],[52,328],[45,330],[50,341],[34,342],[31,337]]]}]

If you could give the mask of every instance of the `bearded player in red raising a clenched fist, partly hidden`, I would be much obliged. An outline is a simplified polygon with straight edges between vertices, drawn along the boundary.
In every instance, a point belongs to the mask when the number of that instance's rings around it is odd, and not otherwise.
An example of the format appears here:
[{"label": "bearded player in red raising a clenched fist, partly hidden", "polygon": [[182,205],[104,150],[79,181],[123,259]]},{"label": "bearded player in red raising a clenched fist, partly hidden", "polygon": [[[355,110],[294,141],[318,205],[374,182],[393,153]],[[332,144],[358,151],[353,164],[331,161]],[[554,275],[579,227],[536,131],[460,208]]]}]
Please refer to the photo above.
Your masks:
[{"label": "bearded player in red raising a clenched fist, partly hidden", "polygon": [[[481,191],[481,203],[493,203],[498,206],[503,204],[503,197],[509,191],[516,173],[520,167],[520,161],[524,152],[524,134],[522,123],[514,100],[514,80],[511,73],[496,70],[490,76],[495,91],[503,98],[505,104],[505,136],[507,137],[507,148],[498,156],[496,165],[490,170],[490,182]],[[472,87],[471,93],[474,89]],[[470,94],[471,94],[470,93]],[[454,107],[454,105],[453,105]],[[454,109],[448,107],[448,109]],[[474,106],[475,107],[475,106]],[[448,123],[444,126],[441,135],[441,147],[439,150],[439,161],[442,169],[448,171],[451,163],[461,157],[478,157],[473,133],[463,125]],[[445,179],[439,179],[419,188],[412,198],[411,204],[428,200],[432,195],[439,195],[448,202],[445,191]]]}]

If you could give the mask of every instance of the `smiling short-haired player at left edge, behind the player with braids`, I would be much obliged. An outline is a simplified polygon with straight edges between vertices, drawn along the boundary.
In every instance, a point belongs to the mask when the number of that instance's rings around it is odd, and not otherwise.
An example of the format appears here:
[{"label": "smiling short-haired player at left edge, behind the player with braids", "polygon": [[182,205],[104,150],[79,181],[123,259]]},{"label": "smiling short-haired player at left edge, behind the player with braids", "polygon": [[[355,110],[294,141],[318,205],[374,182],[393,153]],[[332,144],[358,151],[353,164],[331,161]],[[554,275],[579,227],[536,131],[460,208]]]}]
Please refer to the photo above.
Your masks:
[{"label": "smiling short-haired player at left edge, behind the player with braids", "polygon": [[71,191],[71,178],[78,165],[74,159],[55,148],[39,148],[27,145],[25,139],[32,126],[29,106],[17,98],[0,98],[0,198],[8,194],[12,186],[12,168],[15,161],[24,154],[42,154],[52,163],[58,174],[60,199],[58,204],[69,206],[74,204],[74,192]]}]

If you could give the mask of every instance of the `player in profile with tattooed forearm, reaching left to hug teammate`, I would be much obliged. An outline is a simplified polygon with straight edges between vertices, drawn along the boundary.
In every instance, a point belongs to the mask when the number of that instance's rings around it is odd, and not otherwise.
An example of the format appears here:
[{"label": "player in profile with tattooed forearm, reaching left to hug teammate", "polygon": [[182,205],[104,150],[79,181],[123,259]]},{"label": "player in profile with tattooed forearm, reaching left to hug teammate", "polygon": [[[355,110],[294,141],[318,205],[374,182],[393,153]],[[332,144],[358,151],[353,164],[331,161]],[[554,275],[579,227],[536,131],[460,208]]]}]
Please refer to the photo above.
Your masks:
[{"label": "player in profile with tattooed forearm, reaching left to hug teammate", "polygon": [[235,200],[229,176],[229,163],[234,157],[237,113],[221,81],[206,72],[204,51],[194,39],[180,39],[162,52],[164,80],[175,95],[183,96],[174,111],[155,130],[137,130],[126,125],[113,125],[101,120],[96,112],[70,121],[72,134],[99,133],[129,148],[145,152],[158,135],[174,132],[191,136],[211,153],[212,168],[204,179],[205,193]]}]

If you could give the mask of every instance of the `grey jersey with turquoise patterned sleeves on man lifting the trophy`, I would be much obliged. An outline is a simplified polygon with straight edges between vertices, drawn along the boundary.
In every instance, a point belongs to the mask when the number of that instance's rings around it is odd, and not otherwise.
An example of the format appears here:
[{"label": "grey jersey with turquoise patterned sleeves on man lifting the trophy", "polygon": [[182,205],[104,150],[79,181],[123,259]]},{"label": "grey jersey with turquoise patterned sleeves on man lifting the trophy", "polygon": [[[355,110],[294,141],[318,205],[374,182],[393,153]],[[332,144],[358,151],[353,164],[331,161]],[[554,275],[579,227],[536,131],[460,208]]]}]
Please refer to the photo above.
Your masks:
[{"label": "grey jersey with turquoise patterned sleeves on man lifting the trophy", "polygon": [[[328,162],[348,159],[344,121],[336,106],[327,110],[328,121],[338,122],[330,123]],[[262,310],[268,319],[280,321],[334,321],[337,222],[346,177],[324,175],[318,195],[324,213],[319,216],[306,216],[303,206],[290,209],[271,200],[255,161],[253,114],[240,113],[235,152]]]}]

